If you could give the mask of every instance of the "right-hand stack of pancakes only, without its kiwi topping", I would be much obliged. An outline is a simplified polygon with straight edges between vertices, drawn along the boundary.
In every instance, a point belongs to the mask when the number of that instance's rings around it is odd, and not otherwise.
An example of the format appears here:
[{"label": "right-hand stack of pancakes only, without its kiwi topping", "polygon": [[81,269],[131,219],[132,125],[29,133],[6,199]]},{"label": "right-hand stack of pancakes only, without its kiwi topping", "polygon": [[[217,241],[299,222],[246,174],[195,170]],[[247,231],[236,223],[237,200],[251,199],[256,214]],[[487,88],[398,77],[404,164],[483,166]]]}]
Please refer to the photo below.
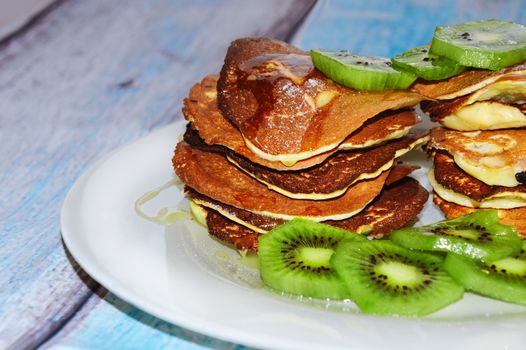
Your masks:
[{"label": "right-hand stack of pancakes only, without its kiwi topping", "polygon": [[526,64],[414,89],[436,99],[422,110],[444,126],[429,142],[434,202],[447,218],[498,209],[526,238]]}]

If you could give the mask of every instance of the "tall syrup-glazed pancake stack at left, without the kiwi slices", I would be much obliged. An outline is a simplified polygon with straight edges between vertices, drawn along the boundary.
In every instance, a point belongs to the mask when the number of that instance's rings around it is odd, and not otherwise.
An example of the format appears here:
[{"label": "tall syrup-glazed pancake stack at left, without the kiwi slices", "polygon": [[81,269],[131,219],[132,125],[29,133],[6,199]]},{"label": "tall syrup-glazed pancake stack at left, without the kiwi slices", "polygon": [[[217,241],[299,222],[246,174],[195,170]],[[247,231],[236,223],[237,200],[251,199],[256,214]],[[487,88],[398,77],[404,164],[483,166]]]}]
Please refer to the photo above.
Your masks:
[{"label": "tall syrup-glazed pancake stack at left, without the kiwi slices", "polygon": [[294,217],[379,237],[406,226],[427,191],[396,158],[428,141],[409,91],[358,92],[307,52],[267,38],[234,41],[220,76],[184,101],[173,165],[208,231],[241,250]]}]

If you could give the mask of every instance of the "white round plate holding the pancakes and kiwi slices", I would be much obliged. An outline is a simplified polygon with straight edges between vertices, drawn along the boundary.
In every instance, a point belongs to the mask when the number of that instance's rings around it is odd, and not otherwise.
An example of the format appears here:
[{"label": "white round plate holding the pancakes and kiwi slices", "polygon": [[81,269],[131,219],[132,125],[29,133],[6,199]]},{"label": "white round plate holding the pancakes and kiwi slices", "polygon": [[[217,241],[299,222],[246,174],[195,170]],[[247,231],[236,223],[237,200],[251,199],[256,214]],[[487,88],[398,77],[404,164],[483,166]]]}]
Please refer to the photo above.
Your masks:
[{"label": "white round plate holding the pancakes and kiwi slices", "polygon": [[[140,218],[134,202],[172,178],[170,159],[182,130],[182,122],[170,125],[108,155],[64,202],[68,249],[119,297],[174,324],[260,348],[525,348],[526,308],[466,294],[432,316],[404,319],[291,299],[263,288],[256,269],[193,221],[165,228]],[[155,204],[184,202],[178,191],[169,196]],[[421,221],[439,218],[428,203]]]}]

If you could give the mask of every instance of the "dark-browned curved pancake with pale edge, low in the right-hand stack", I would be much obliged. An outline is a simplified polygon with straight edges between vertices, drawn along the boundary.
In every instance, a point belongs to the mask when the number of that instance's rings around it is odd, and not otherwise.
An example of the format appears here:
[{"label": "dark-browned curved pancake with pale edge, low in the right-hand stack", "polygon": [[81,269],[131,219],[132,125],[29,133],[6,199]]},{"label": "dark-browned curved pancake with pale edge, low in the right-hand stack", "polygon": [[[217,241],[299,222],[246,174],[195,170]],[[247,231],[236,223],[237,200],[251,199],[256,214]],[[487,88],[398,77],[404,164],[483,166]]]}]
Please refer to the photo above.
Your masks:
[{"label": "dark-browned curved pancake with pale edge, low in the right-hand stack", "polygon": [[509,209],[526,206],[526,185],[490,186],[462,171],[449,154],[436,152],[429,181],[449,202],[473,208]]}]

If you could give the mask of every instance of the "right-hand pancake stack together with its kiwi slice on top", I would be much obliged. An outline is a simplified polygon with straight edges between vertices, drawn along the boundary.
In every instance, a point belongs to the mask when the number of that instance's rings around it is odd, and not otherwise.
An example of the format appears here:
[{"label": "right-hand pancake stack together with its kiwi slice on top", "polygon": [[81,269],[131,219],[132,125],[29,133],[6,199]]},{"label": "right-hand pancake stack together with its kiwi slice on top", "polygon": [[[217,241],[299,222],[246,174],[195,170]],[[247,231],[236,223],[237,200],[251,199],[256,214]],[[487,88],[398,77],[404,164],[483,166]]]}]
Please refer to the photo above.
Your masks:
[{"label": "right-hand pancake stack together with its kiwi slice on top", "polygon": [[414,86],[442,125],[429,142],[434,202],[447,218],[497,209],[526,238],[526,28],[480,21],[437,31],[448,54],[477,69]]}]

